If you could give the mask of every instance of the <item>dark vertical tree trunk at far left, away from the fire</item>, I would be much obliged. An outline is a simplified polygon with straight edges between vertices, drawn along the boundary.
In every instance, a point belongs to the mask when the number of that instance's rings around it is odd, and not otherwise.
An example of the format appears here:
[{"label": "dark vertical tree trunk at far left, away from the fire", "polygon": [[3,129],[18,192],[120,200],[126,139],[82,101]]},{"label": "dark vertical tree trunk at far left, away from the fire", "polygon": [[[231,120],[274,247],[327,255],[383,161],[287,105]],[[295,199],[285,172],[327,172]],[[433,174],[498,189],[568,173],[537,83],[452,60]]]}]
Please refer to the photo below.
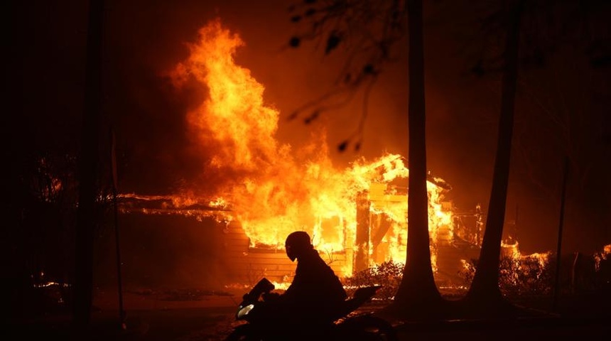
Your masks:
[{"label": "dark vertical tree trunk at far left, away from the fire", "polygon": [[77,328],[90,323],[93,288],[95,197],[99,160],[99,119],[102,60],[103,0],[91,0],[87,31],[85,108],[79,156],[79,200],[75,240],[75,283],[72,320]]}]

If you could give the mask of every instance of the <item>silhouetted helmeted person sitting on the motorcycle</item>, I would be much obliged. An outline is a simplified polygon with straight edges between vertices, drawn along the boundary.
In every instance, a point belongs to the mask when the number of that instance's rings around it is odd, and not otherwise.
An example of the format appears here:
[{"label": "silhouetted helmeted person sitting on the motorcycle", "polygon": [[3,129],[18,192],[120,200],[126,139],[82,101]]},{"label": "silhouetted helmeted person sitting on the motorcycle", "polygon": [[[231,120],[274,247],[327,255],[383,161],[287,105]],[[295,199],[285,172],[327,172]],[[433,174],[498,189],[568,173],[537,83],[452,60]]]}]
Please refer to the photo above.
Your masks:
[{"label": "silhouetted helmeted person sitting on the motorcycle", "polygon": [[279,327],[317,328],[330,324],[345,307],[346,291],[331,267],[325,263],[303,231],[288,235],[286,256],[297,260],[291,286],[279,295],[264,295],[266,316]]}]

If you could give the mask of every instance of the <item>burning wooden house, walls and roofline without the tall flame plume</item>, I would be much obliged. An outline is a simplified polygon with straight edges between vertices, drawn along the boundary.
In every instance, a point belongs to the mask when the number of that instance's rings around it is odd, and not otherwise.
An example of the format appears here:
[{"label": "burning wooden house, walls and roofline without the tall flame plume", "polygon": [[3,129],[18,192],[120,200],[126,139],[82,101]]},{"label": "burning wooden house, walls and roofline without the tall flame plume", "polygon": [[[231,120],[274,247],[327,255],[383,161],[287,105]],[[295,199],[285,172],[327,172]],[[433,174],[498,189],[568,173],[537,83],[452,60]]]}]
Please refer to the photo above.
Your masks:
[{"label": "burning wooden house, walls and roofline without the tall flame plume", "polygon": [[[444,189],[429,182],[429,193],[436,190]],[[303,227],[335,273],[345,278],[385,261],[404,263],[408,228],[406,188],[372,183],[369,190],[353,197],[352,204],[350,215],[313,217],[314,224]],[[451,204],[433,201],[429,208],[433,269],[440,275],[455,273],[460,263],[455,251],[451,251],[455,249]],[[284,252],[286,234],[279,232],[282,227],[271,225],[264,230],[250,230],[237,220],[230,205],[218,206],[215,202],[184,205],[172,196],[121,195],[121,211],[132,216],[183,217],[194,221],[190,224],[216,229],[219,247],[215,258],[229,283],[251,284],[265,276],[282,286],[294,274],[295,264]]]}]

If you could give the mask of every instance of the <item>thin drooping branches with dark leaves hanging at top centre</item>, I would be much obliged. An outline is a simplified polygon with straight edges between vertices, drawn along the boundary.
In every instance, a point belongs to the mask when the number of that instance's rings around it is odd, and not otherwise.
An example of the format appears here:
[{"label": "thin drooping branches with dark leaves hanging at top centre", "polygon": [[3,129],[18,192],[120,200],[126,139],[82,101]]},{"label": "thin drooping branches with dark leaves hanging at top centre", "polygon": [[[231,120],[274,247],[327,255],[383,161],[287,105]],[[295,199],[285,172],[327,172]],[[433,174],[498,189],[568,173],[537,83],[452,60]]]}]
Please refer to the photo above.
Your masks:
[{"label": "thin drooping branches with dark leaves hanging at top centre", "polygon": [[391,48],[406,33],[404,1],[306,0],[293,4],[289,13],[297,29],[289,46],[298,48],[303,41],[310,41],[317,49],[324,45],[325,55],[342,47],[347,58],[332,90],[298,107],[288,120],[305,115],[303,121],[309,124],[324,112],[345,106],[364,88],[357,129],[337,146],[339,151],[345,151],[354,144],[358,151],[367,120],[367,97],[382,67],[394,61]]}]

